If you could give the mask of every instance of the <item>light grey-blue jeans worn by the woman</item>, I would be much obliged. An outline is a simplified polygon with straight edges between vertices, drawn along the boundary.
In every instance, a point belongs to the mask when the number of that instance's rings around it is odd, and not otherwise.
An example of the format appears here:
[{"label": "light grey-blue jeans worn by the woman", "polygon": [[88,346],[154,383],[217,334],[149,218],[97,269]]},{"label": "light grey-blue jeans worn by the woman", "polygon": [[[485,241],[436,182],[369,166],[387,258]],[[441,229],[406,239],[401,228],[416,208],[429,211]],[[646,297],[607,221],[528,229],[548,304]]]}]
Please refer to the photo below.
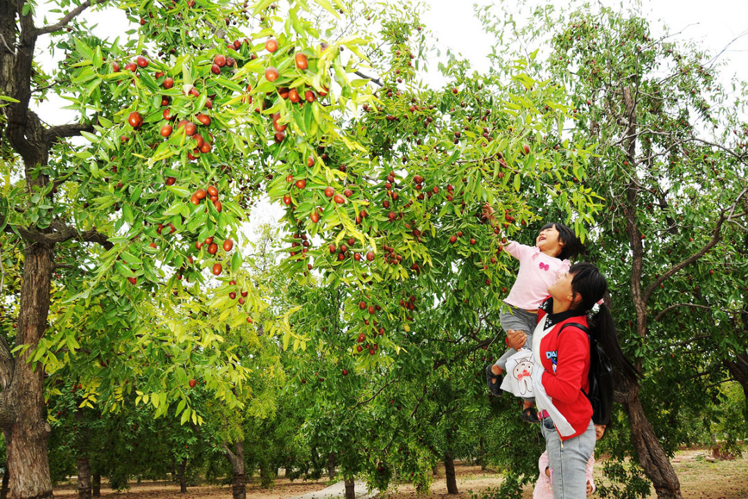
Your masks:
[{"label": "light grey-blue jeans worn by the woman", "polygon": [[548,468],[554,499],[580,499],[587,495],[587,461],[595,450],[595,425],[592,420],[584,433],[561,443],[550,417],[542,420]]}]

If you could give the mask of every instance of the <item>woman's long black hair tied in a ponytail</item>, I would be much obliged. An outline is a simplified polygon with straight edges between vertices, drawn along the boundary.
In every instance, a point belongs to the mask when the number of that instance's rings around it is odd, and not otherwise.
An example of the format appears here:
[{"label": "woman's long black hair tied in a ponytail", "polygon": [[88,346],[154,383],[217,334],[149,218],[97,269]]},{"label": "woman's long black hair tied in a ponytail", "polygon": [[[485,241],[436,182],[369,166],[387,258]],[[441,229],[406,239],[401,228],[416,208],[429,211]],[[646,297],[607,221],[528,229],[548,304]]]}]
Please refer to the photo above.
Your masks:
[{"label": "woman's long black hair tied in a ponytail", "polygon": [[[580,296],[581,301],[574,307],[577,310],[592,310],[592,307],[603,298],[607,291],[607,281],[600,270],[592,263],[574,263],[568,269],[571,279],[571,293]],[[598,342],[605,354],[610,358],[610,363],[618,373],[629,382],[637,384],[637,373],[634,364],[623,355],[621,345],[616,333],[616,325],[613,316],[605,304],[599,305],[599,310],[592,316],[589,322],[592,337]]]}]

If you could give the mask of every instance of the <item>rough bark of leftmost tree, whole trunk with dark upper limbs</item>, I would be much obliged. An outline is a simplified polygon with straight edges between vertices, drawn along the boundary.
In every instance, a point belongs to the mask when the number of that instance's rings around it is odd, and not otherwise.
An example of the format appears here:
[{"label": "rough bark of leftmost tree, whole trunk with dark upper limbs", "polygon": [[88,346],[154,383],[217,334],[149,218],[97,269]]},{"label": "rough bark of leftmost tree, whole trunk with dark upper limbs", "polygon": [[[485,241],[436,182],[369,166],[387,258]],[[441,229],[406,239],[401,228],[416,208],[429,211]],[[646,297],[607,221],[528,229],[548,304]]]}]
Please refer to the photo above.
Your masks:
[{"label": "rough bark of leftmost tree, whole trunk with dark upper limbs", "polygon": [[[37,37],[50,31],[34,26],[33,9],[23,14],[25,3],[25,0],[0,0],[0,93],[18,101],[1,108],[6,120],[0,135],[22,158],[26,187],[31,191],[49,183],[48,177],[35,172],[47,164],[49,149],[60,137],[58,132],[73,134],[83,128],[65,126],[64,131],[46,128],[28,108],[34,47]],[[84,8],[76,8],[76,13],[71,11],[61,23],[69,22]],[[0,426],[7,445],[10,499],[46,499],[52,498],[47,456],[51,429],[46,422],[43,369],[26,360],[34,354],[34,347],[46,331],[55,240],[45,239],[52,233],[50,228],[16,228],[22,230],[25,239],[16,344],[30,347],[19,358],[4,358],[0,369],[3,388]]]}]

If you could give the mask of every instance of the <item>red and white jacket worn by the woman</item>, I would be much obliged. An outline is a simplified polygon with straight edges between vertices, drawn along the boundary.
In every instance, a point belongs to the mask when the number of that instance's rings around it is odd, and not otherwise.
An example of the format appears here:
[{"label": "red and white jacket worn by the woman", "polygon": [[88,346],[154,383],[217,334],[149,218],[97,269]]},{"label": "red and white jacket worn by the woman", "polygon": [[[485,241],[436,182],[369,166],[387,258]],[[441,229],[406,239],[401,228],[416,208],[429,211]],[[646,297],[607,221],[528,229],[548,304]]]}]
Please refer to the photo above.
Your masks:
[{"label": "red and white jacket worn by the woman", "polygon": [[553,299],[546,299],[538,310],[538,326],[533,334],[533,357],[542,369],[533,374],[533,391],[539,410],[546,410],[561,440],[581,435],[592,419],[592,405],[582,391],[589,390],[589,337],[585,331],[565,324],[589,328],[586,313],[567,310],[551,313]]}]

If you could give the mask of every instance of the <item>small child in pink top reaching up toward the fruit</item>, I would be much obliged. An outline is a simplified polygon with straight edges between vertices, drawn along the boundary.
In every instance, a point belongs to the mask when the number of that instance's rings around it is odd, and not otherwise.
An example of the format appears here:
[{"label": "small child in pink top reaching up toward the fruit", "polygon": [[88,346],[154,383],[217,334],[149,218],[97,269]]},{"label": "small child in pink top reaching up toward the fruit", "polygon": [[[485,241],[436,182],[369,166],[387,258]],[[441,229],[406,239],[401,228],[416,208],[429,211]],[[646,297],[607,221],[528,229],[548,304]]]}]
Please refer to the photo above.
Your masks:
[{"label": "small child in pink top reaching up toward the fruit", "polygon": [[[485,205],[485,218],[494,223],[494,210]],[[535,246],[521,245],[511,241],[504,246],[504,251],[519,260],[517,280],[504,299],[505,310],[501,313],[501,327],[507,334],[507,346],[510,337],[518,337],[522,349],[527,349],[527,355],[518,355],[512,361],[510,369],[513,374],[505,379],[501,386],[497,383],[499,376],[507,370],[506,363],[517,350],[510,348],[491,366],[486,369],[488,389],[494,395],[499,395],[499,388],[511,391],[518,397],[524,398],[521,417],[529,423],[538,423],[538,417],[533,408],[534,399],[524,397],[527,388],[532,385],[532,363],[530,361],[530,346],[533,344],[533,331],[538,321],[538,306],[548,296],[548,286],[554,284],[561,272],[568,270],[571,265],[568,258],[575,257],[581,250],[581,243],[574,231],[558,222],[545,224],[535,239]],[[515,345],[517,346],[517,345]],[[513,382],[511,388],[509,385]],[[525,383],[527,387],[522,385]]]}]

